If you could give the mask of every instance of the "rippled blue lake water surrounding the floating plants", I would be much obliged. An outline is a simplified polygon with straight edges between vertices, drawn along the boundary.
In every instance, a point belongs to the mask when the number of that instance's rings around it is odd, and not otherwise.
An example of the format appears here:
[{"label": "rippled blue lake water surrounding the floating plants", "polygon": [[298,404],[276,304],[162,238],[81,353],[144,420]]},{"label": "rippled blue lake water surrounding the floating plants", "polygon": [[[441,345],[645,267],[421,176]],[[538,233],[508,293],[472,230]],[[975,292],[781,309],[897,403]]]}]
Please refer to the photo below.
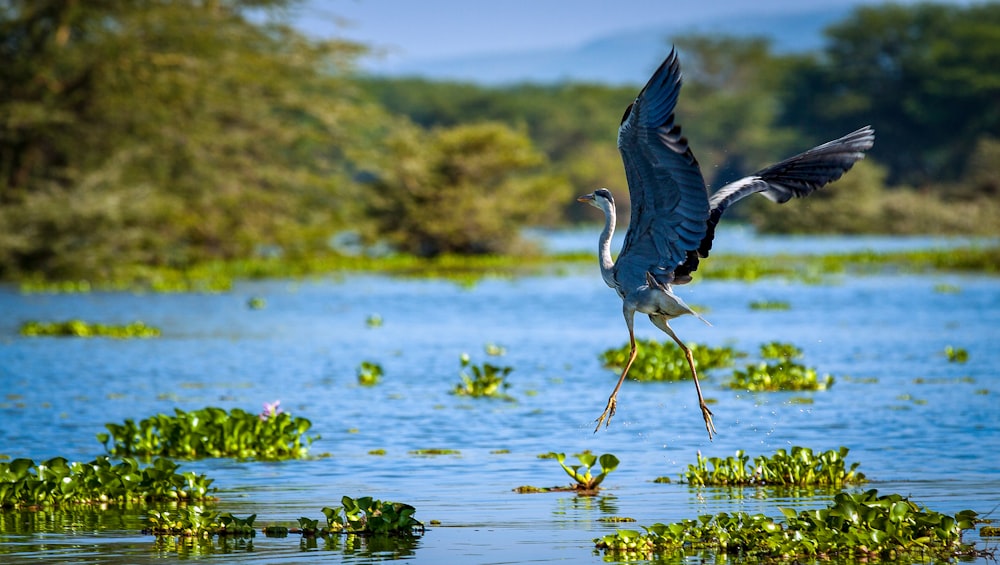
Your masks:
[{"label": "rippled blue lake water surrounding the floating plants", "polygon": [[[591,238],[593,234],[591,234]],[[721,246],[720,246],[721,249]],[[731,249],[727,248],[727,251]],[[103,453],[108,422],[205,406],[259,411],[281,401],[319,434],[311,454],[280,463],[183,462],[215,479],[216,508],[257,514],[257,525],[322,518],[344,495],[416,507],[426,533],[407,547],[315,546],[298,536],[249,543],[158,543],[139,531],[142,508],[78,509],[66,515],[3,514],[0,561],[602,563],[593,538],[634,518],[638,528],[701,514],[825,507],[826,496],[767,489],[691,488],[678,477],[696,454],[751,457],[793,445],[850,448],[872,481],[939,512],[1000,505],[1000,278],[951,274],[834,277],[823,284],[696,279],[679,288],[713,324],[675,320],[688,343],[751,354],[770,341],[803,349],[801,362],[836,378],[826,391],[749,394],[703,380],[719,434],[709,442],[690,382],[626,382],[610,428],[595,434],[617,375],[598,355],[627,340],[617,296],[595,265],[564,276],[447,281],[346,275],[238,284],[226,294],[22,295],[0,287],[0,455],[36,462]],[[251,297],[266,306],[253,310]],[[751,310],[784,301],[786,311]],[[368,327],[377,314],[384,323]],[[149,340],[26,338],[27,320],[141,320]],[[644,318],[641,338],[663,336]],[[486,344],[506,348],[488,357]],[[946,346],[968,351],[949,362]],[[456,397],[459,357],[514,368],[516,402]],[[362,361],[382,383],[357,384]],[[738,362],[742,364],[742,361]],[[802,402],[803,398],[811,402]],[[420,456],[420,449],[458,455]],[[385,455],[370,455],[384,449]],[[591,450],[621,464],[599,496],[518,494],[521,485],[567,485],[539,454]],[[669,476],[671,484],[652,482]],[[29,522],[31,524],[29,524]],[[439,522],[439,523],[438,523]],[[966,539],[977,546],[996,547]],[[986,560],[981,560],[984,563]]]}]

